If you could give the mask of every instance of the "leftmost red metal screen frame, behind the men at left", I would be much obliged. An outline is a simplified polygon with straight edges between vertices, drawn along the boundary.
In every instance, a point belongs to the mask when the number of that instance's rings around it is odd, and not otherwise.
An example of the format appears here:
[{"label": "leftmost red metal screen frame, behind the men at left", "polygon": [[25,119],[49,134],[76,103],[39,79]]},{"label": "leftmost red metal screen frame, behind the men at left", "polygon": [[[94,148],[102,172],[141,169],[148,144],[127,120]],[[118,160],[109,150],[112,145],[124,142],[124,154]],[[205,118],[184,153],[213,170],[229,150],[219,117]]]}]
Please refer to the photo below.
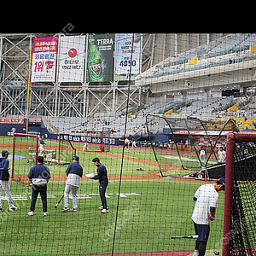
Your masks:
[{"label": "leftmost red metal screen frame, behind the men at left", "polygon": [[34,139],[36,139],[36,148],[35,148],[35,165],[38,164],[38,140],[39,140],[39,136],[38,135],[35,135],[35,134],[26,134],[26,133],[19,133],[19,132],[14,132],[14,136],[13,136],[13,160],[12,160],[12,180],[17,182],[17,183],[23,183],[23,184],[26,184],[27,183],[24,183],[22,181],[20,181],[20,179],[18,178],[15,178],[15,138],[16,137],[32,137]]}]

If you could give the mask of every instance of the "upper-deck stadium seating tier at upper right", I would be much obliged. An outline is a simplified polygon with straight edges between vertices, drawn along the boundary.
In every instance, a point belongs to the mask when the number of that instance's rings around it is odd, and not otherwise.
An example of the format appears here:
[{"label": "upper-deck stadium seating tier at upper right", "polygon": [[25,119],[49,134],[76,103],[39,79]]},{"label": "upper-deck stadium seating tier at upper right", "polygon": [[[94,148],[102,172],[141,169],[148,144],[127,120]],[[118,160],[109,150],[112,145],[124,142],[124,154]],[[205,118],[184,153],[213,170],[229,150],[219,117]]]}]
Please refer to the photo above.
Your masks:
[{"label": "upper-deck stadium seating tier at upper right", "polygon": [[[168,58],[157,65],[156,70],[151,73],[146,72],[137,80],[152,79],[176,73],[186,73],[189,71],[200,70],[210,67],[220,67],[241,61],[250,61],[256,59],[256,54],[250,55],[250,47],[256,44],[256,34],[230,34],[224,38],[206,45],[201,45],[195,49],[187,51],[175,58]],[[189,60],[197,56],[197,63],[189,66]]]}]

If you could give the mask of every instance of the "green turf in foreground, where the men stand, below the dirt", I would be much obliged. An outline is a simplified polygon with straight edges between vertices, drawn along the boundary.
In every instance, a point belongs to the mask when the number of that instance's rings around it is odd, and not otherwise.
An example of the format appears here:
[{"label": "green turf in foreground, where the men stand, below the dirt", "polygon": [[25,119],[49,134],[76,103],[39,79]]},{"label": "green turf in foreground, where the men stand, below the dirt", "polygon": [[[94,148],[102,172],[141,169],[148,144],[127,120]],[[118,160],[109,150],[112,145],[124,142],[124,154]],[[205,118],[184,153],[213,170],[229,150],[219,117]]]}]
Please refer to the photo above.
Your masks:
[{"label": "green turf in foreground, where the men stand, below the dirt", "polygon": [[[193,250],[195,240],[171,236],[189,236],[195,233],[191,214],[193,195],[199,183],[179,182],[172,179],[123,180],[121,193],[136,193],[119,198],[118,221],[113,253],[147,253]],[[99,195],[79,199],[78,212],[61,212],[65,182],[49,182],[49,216],[44,217],[42,202],[38,199],[35,215],[28,216],[31,188],[11,182],[13,195],[24,195],[28,200],[15,201],[19,210],[0,212],[1,255],[53,255],[112,253],[113,234],[117,213],[119,181],[110,181],[107,193],[108,214],[102,214]],[[83,181],[79,194],[98,193],[97,181]],[[4,194],[4,193],[3,193]],[[212,222],[208,249],[221,247],[224,193],[221,192],[216,221]],[[70,206],[72,200],[70,199]]]}]

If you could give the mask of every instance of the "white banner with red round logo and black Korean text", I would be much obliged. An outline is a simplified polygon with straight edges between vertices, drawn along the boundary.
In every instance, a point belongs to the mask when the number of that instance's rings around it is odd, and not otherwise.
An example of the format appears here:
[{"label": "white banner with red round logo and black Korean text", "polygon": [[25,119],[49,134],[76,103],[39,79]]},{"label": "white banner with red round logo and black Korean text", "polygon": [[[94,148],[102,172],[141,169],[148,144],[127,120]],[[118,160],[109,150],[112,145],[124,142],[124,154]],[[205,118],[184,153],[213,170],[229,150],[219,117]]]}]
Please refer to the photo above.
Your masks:
[{"label": "white banner with red round logo and black Korean text", "polygon": [[62,37],[58,82],[84,82],[85,36]]}]

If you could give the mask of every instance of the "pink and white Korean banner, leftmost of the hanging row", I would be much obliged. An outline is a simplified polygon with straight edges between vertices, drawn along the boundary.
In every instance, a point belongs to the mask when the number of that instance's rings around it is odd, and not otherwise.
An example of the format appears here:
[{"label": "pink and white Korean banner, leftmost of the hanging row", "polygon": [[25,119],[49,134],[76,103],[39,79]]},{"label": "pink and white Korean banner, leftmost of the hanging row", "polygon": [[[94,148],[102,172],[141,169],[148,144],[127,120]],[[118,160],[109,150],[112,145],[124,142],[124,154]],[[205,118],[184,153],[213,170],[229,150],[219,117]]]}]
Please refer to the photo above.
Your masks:
[{"label": "pink and white Korean banner, leftmost of the hanging row", "polygon": [[32,49],[31,83],[55,83],[57,37],[35,38]]}]

